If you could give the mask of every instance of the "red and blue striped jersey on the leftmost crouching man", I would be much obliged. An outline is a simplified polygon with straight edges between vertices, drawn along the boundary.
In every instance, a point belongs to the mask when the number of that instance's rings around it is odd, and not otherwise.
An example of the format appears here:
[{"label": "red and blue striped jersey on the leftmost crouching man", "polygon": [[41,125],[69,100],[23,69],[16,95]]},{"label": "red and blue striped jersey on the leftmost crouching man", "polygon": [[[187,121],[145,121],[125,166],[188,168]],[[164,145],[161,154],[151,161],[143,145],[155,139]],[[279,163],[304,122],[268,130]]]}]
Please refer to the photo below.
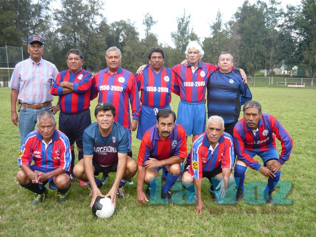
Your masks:
[{"label": "red and blue striped jersey on the leftmost crouching man", "polygon": [[45,147],[39,130],[29,133],[24,139],[18,158],[19,166],[34,164],[43,169],[57,169],[59,167],[70,171],[71,151],[67,136],[55,129],[51,142]]}]

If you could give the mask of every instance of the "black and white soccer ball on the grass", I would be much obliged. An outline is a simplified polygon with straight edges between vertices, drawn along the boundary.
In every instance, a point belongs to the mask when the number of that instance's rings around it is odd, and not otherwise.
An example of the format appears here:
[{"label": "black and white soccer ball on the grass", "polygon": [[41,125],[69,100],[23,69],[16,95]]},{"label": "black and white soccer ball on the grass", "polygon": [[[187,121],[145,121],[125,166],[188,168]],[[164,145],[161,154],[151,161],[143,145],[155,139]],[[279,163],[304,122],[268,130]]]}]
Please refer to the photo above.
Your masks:
[{"label": "black and white soccer ball on the grass", "polygon": [[98,218],[110,218],[114,213],[114,204],[109,197],[99,197],[92,206],[92,213]]}]

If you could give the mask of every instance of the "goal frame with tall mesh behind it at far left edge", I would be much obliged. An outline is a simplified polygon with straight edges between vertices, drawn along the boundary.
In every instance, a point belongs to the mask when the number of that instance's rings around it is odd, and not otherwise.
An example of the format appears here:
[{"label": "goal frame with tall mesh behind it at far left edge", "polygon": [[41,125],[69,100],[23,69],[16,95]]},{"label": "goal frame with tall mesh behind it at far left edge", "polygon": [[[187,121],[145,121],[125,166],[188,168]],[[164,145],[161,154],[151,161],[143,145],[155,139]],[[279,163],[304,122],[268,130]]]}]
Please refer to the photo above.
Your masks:
[{"label": "goal frame with tall mesh behind it at far left edge", "polygon": [[0,86],[8,86],[14,67],[23,61],[23,48],[0,47]]}]

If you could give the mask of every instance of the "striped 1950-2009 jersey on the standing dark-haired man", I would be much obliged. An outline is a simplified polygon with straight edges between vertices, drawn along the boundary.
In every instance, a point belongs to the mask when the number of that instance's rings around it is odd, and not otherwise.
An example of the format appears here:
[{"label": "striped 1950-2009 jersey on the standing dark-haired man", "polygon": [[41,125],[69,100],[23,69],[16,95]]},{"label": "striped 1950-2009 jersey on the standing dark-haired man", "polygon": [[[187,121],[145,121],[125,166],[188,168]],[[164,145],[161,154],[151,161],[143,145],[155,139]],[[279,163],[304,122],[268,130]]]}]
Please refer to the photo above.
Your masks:
[{"label": "striped 1950-2009 jersey on the standing dark-haired man", "polygon": [[152,67],[136,74],[138,91],[141,91],[140,102],[149,107],[165,107],[170,104],[171,93],[179,95],[174,89],[175,74],[169,68],[162,68],[157,74]]}]

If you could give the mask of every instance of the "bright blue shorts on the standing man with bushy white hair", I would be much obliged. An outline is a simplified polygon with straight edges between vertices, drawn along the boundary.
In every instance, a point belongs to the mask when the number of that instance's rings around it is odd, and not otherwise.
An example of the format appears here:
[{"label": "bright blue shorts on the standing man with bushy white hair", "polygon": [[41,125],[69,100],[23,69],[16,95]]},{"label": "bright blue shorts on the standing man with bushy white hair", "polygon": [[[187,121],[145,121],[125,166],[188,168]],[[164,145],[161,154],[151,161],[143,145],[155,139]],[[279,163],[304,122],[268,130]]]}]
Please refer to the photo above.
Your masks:
[{"label": "bright blue shorts on the standing man with bushy white hair", "polygon": [[204,102],[188,103],[180,100],[177,123],[184,127],[187,136],[205,132],[206,109]]}]

